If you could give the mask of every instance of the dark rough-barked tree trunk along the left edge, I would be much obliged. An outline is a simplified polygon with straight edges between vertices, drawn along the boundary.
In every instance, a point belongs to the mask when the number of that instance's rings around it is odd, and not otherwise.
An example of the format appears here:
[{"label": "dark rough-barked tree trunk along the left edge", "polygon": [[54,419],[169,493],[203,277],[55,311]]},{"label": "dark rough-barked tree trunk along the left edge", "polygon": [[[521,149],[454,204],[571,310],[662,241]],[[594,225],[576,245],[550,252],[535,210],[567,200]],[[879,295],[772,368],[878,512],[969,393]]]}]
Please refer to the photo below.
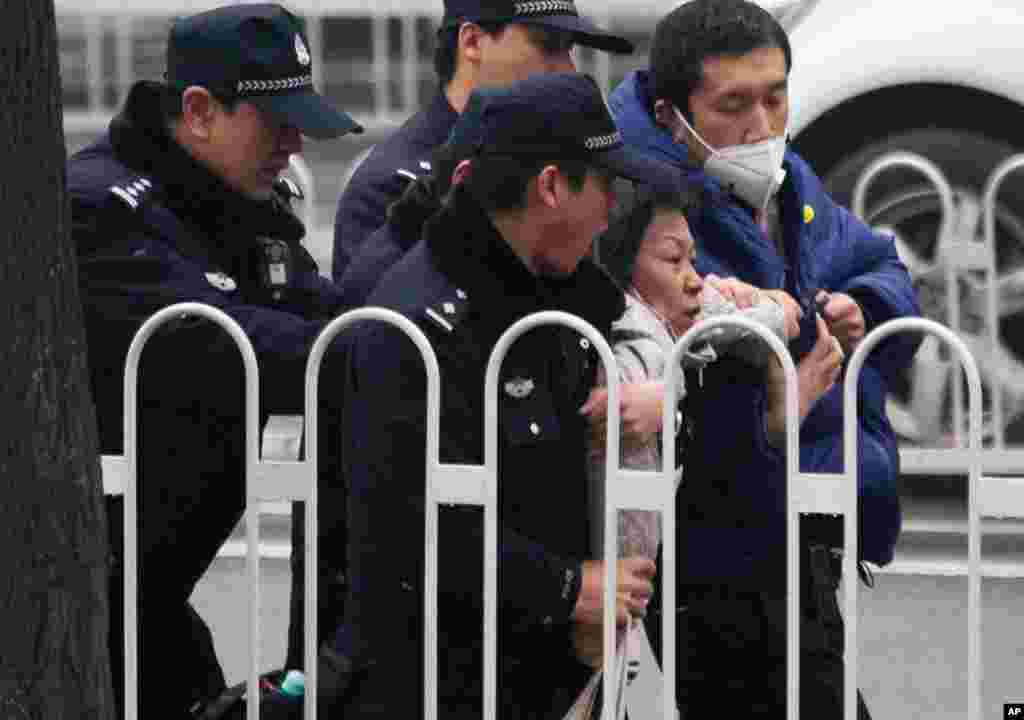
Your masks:
[{"label": "dark rough-barked tree trunk along the left edge", "polygon": [[0,8],[0,720],[106,720],[106,530],[53,0]]}]

